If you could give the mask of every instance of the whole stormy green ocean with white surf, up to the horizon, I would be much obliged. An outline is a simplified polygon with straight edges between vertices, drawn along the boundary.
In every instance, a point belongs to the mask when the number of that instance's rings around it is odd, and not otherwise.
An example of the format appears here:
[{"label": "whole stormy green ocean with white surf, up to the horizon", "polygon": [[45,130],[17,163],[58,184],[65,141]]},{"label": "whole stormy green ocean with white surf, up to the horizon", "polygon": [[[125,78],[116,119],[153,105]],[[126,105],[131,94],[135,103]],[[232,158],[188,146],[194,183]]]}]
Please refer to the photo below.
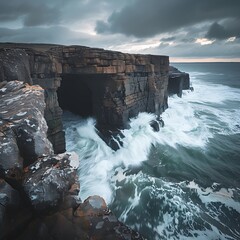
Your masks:
[{"label": "whole stormy green ocean with white surf, up to the horizon", "polygon": [[165,126],[139,113],[113,151],[92,118],[64,114],[80,197],[105,198],[146,239],[240,239],[240,63],[173,63],[194,91],[169,97]]}]

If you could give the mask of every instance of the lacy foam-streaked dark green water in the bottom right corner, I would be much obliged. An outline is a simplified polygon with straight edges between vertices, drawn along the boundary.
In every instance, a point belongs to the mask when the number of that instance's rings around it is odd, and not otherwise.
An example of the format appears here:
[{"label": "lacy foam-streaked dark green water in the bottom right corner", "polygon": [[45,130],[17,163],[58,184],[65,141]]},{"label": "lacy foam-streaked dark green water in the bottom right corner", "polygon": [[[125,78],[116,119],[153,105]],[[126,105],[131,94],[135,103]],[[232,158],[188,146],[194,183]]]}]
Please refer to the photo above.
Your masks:
[{"label": "lacy foam-streaked dark green water in the bottom right corner", "polygon": [[[201,188],[194,181],[171,183],[141,172],[125,176],[124,185],[118,190],[124,191],[126,184],[133,184],[134,190],[120,219],[123,222],[134,219],[131,226],[136,229],[143,222],[148,223],[144,228],[152,232],[150,239],[233,240],[240,237],[240,232],[233,231],[228,225],[240,210],[239,202],[233,199],[234,195],[239,197],[239,190],[220,188],[216,191],[216,184]],[[197,203],[196,198],[199,199]],[[143,202],[144,205],[139,204]],[[224,212],[224,207],[228,208],[228,213]]]}]

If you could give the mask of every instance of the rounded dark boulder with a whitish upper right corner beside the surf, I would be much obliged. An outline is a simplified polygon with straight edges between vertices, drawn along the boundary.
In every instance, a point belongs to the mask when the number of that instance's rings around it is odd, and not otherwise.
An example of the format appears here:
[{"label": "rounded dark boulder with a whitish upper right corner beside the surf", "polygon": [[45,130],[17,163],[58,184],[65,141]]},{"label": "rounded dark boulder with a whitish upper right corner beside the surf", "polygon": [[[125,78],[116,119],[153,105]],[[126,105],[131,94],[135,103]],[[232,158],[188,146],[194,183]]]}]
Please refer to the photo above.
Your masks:
[{"label": "rounded dark boulder with a whitish upper right corner beside the surf", "polygon": [[75,154],[60,154],[39,159],[25,169],[23,188],[38,213],[78,204],[78,159]]}]

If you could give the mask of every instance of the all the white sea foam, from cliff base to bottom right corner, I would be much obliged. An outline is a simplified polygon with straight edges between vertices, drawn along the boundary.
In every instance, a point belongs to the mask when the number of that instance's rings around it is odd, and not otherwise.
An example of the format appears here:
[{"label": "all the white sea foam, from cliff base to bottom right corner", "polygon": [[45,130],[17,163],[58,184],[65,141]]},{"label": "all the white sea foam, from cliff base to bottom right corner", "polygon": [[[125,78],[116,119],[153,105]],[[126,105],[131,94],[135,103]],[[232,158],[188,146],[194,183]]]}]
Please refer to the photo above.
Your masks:
[{"label": "all the white sea foam, from cliff base to bottom right corner", "polygon": [[[236,104],[240,100],[239,89],[219,84],[208,84],[206,87],[206,83],[197,81],[197,74],[195,76],[194,92],[184,92],[182,99],[176,96],[169,99],[169,108],[162,114],[165,126],[160,132],[154,132],[149,125],[155,119],[153,114],[140,113],[137,118],[130,120],[130,129],[122,131],[123,146],[113,151],[98,136],[93,119],[82,120],[70,115],[65,126],[67,149],[77,152],[80,158],[82,199],[97,194],[111,203],[115,192],[124,187],[124,184],[118,183],[133,184],[133,193],[120,216],[122,221],[126,222],[131,212],[139,207],[143,192],[149,192],[153,199],[161,200],[162,204],[159,209],[162,219],[154,222],[154,226],[149,223],[152,219],[146,219],[146,224],[151,225],[156,237],[175,239],[174,236],[179,231],[180,239],[191,239],[191,236],[194,239],[234,239],[240,237],[239,233],[232,232],[229,226],[219,220],[225,213],[215,213],[214,207],[214,204],[221,204],[230,212],[240,213],[239,202],[233,198],[234,189],[221,188],[214,191],[212,186],[203,189],[194,181],[171,183],[150,178],[141,172],[129,175],[124,173],[130,166],[138,166],[147,160],[152,145],[204,149],[215,134],[240,133],[240,128],[237,127],[240,125],[240,110]],[[228,108],[229,101],[235,102],[236,107]],[[189,192],[197,194],[199,205],[189,199]],[[194,227],[196,217],[203,229],[196,230]],[[141,224],[140,220],[135,220],[136,229]],[[179,230],[180,225],[187,226],[189,236],[186,237]],[[216,226],[220,226],[222,231]]]}]

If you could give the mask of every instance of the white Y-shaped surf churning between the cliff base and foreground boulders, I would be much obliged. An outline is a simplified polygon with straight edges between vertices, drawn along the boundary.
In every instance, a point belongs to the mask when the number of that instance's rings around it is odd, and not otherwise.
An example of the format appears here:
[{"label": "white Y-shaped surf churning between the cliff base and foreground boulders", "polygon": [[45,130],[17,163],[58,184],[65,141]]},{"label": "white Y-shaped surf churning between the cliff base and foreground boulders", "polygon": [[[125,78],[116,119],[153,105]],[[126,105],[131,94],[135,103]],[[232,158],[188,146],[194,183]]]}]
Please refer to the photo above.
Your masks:
[{"label": "white Y-shaped surf churning between the cliff base and foreground boulders", "polygon": [[141,113],[131,120],[131,129],[122,132],[123,147],[116,152],[97,135],[93,119],[68,124],[67,150],[77,152],[80,158],[82,198],[98,194],[111,202],[109,179],[113,170],[120,165],[137,166],[147,160],[151,144],[157,139],[157,133],[149,125],[154,118],[152,114]]}]

